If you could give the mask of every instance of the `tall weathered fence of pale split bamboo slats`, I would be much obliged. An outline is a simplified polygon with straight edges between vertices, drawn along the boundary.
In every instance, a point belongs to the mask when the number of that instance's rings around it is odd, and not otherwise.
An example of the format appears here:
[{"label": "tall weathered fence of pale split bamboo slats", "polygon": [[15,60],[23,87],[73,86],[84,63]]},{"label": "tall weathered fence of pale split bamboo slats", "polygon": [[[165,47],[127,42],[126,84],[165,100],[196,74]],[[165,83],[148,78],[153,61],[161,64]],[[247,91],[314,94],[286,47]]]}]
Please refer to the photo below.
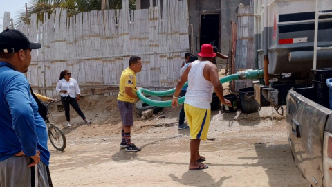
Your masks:
[{"label": "tall weathered fence of pale split bamboo slats", "polygon": [[[118,86],[131,55],[142,57],[138,87],[163,90],[174,87],[181,62],[189,51],[187,0],[160,0],[156,7],[129,10],[82,12],[67,17],[66,10],[45,13],[43,21],[31,16],[30,25],[20,24],[34,50],[27,73],[33,89],[49,97],[57,96],[59,73],[70,70],[81,89]],[[5,12],[4,29],[10,13]],[[107,95],[107,94],[105,94]]]}]

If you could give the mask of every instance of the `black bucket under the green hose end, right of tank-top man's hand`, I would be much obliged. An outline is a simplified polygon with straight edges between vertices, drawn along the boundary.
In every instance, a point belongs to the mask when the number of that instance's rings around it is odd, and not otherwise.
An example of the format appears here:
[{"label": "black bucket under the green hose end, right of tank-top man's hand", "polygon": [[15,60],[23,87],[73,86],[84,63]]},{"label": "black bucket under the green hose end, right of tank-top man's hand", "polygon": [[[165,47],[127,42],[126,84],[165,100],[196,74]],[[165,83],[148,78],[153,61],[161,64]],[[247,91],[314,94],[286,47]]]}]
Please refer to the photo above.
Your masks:
[{"label": "black bucket under the green hose end, right of tank-top man's hand", "polygon": [[255,100],[253,87],[239,89],[239,96],[241,100],[241,112],[246,114],[258,112],[259,104]]}]

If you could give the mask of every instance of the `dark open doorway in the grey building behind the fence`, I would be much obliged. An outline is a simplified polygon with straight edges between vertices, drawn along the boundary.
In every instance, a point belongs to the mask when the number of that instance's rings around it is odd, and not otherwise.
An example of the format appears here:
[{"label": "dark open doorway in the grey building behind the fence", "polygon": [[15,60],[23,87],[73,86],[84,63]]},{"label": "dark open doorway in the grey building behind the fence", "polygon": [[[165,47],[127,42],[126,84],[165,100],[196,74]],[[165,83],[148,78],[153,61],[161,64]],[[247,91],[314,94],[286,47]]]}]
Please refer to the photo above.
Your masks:
[{"label": "dark open doorway in the grey building behind the fence", "polygon": [[203,44],[211,44],[219,48],[220,14],[201,15],[200,38],[201,46]]}]

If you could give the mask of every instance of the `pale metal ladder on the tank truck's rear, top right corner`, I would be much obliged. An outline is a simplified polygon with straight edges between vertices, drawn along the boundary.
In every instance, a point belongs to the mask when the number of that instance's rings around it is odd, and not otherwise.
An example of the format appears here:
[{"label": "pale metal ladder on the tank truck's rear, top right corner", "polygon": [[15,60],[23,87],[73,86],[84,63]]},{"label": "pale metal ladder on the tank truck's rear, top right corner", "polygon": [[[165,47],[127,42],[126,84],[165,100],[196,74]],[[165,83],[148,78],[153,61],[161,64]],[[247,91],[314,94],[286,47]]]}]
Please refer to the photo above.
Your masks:
[{"label": "pale metal ladder on the tank truck's rear, top right corner", "polygon": [[313,44],[313,69],[317,69],[317,51],[320,50],[329,50],[332,49],[332,46],[329,47],[318,47],[318,19],[320,16],[332,15],[332,12],[320,12],[318,10],[318,3],[320,0],[316,0],[316,16],[315,16],[315,42]]}]

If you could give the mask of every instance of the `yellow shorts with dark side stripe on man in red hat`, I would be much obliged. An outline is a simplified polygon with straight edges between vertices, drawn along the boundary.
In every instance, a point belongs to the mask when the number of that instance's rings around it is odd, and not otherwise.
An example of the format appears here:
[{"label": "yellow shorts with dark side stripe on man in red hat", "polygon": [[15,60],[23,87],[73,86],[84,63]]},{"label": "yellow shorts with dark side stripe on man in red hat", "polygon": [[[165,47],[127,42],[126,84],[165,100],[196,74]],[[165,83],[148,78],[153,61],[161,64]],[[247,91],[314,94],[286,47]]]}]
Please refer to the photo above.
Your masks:
[{"label": "yellow shorts with dark side stripe on man in red hat", "polygon": [[190,137],[206,141],[211,118],[211,109],[201,109],[185,103],[185,116],[190,127]]}]

